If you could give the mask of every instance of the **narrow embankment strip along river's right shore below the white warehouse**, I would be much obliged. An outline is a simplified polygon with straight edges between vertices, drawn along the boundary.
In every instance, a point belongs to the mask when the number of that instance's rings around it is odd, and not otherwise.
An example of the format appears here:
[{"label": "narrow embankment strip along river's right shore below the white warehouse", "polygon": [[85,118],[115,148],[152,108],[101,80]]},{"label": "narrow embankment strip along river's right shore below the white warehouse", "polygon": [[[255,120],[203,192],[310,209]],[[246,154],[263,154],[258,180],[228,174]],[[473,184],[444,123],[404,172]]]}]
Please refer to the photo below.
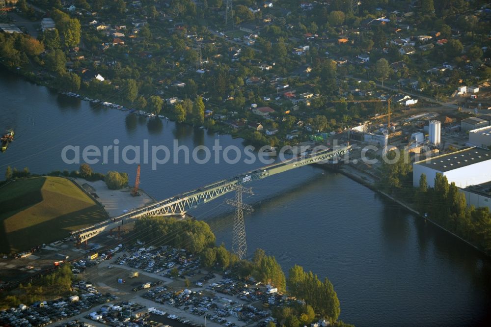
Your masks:
[{"label": "narrow embankment strip along river's right shore below the white warehouse", "polygon": [[378,189],[377,186],[376,186],[376,184],[375,184],[376,181],[375,181],[375,178],[374,178],[373,175],[368,174],[367,172],[364,172],[364,171],[360,171],[360,170],[356,169],[354,166],[352,166],[350,164],[343,165],[342,167],[340,167],[339,169],[337,169],[337,171],[340,172],[341,174],[343,174],[343,175],[345,175],[345,176],[353,179],[355,182],[360,183],[360,184],[366,186],[370,190],[375,191],[375,192],[377,192],[379,194],[382,194],[386,198],[390,199],[391,201],[397,203],[401,207],[403,207],[406,210],[408,210],[409,212],[411,212],[416,217],[423,218],[425,222],[426,221],[431,222],[432,224],[434,224],[436,227],[440,228],[441,230],[449,233],[453,237],[456,237],[457,239],[461,240],[465,244],[472,246],[473,248],[475,248],[479,252],[487,255],[488,257],[491,257],[491,255],[489,253],[487,253],[483,249],[479,248],[478,246],[472,244],[470,241],[465,240],[464,238],[460,237],[459,235],[455,234],[454,232],[452,232],[452,231],[448,230],[447,228],[441,226],[436,221],[434,221],[434,220],[432,220],[432,219],[430,219],[428,217],[425,217],[425,216],[421,215],[417,210],[415,210],[414,208],[412,208],[408,203],[402,201],[401,199],[397,199],[396,197],[394,197],[394,196],[392,196],[392,195],[390,195],[390,194],[388,194],[388,193],[386,193],[386,192],[381,191],[380,189]]}]

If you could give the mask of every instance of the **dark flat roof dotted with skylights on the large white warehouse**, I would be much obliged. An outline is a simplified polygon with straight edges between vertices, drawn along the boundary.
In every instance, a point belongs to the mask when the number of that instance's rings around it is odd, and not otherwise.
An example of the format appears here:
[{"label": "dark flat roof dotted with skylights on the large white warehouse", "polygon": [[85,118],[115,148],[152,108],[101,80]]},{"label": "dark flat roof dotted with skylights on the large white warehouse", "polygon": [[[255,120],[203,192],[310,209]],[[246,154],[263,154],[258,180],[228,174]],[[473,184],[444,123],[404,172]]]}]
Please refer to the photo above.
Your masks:
[{"label": "dark flat roof dotted with skylights on the large white warehouse", "polygon": [[491,151],[479,147],[467,148],[464,150],[447,153],[427,160],[422,160],[414,164],[419,164],[437,171],[445,172],[462,168],[471,164],[481,163],[491,160]]}]

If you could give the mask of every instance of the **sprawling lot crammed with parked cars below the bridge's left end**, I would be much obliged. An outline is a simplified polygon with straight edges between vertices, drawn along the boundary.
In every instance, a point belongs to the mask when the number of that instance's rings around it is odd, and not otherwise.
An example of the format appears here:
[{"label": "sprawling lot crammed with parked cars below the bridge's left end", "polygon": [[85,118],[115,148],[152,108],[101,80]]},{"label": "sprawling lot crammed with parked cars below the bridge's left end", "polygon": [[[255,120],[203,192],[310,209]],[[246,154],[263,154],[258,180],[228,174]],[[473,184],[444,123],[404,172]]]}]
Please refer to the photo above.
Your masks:
[{"label": "sprawling lot crammed with parked cars below the bridge's left end", "polygon": [[[83,280],[74,284],[79,300],[10,309],[1,312],[0,322],[15,317],[18,324],[10,326],[265,326],[272,319],[269,306],[284,300],[275,289],[228,271],[206,271],[198,258],[170,247],[118,245],[72,265]],[[38,314],[48,320],[36,321]]]}]

